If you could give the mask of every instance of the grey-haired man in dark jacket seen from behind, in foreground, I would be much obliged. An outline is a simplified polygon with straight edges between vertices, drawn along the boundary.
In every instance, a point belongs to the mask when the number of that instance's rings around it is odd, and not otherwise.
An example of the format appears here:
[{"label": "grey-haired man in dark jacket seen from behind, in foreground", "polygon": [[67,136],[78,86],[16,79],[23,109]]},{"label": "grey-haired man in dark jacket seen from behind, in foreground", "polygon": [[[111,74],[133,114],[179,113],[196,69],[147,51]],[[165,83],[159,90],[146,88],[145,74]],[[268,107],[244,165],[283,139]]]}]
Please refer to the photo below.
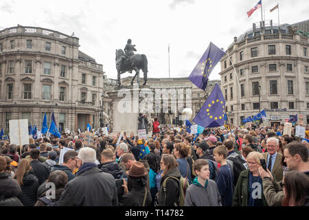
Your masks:
[{"label": "grey-haired man in dark jacket seen from behind, in foreground", "polygon": [[78,159],[82,166],[65,186],[58,206],[118,206],[115,179],[95,164],[95,150],[81,148]]}]

